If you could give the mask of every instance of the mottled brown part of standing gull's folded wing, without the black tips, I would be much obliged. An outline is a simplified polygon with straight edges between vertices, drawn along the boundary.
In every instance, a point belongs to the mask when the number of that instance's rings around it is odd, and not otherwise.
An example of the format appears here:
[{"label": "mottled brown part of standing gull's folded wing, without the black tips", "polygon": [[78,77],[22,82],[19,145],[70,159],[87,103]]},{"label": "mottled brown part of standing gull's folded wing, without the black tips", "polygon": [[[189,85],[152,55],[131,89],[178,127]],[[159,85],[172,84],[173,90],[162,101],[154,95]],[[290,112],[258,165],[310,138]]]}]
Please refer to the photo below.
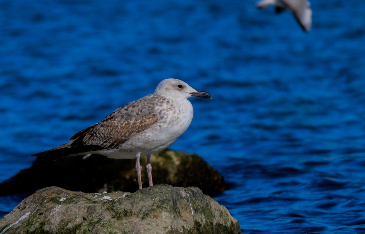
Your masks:
[{"label": "mottled brown part of standing gull's folded wing, without the black tips", "polygon": [[105,117],[98,124],[87,130],[82,142],[84,145],[97,145],[106,149],[118,147],[128,140],[132,134],[142,132],[157,123],[155,106],[146,96],[138,101],[130,102]]}]

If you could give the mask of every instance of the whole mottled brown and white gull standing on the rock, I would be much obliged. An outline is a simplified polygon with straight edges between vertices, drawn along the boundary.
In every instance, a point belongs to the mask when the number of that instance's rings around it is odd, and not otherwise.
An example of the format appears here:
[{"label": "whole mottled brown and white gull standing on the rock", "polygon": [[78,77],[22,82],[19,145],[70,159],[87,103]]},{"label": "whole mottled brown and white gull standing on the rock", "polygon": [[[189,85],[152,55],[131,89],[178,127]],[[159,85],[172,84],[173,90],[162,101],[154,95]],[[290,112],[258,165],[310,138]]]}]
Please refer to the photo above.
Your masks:
[{"label": "whole mottled brown and white gull standing on the rock", "polygon": [[166,149],[188,129],[193,106],[187,99],[192,96],[212,98],[184,81],[165,79],[153,94],[116,109],[97,124],[74,134],[68,143],[32,156],[71,157],[95,153],[112,159],[137,158],[139,189],[142,189],[139,158],[147,156],[146,168],[152,186],[151,153]]}]

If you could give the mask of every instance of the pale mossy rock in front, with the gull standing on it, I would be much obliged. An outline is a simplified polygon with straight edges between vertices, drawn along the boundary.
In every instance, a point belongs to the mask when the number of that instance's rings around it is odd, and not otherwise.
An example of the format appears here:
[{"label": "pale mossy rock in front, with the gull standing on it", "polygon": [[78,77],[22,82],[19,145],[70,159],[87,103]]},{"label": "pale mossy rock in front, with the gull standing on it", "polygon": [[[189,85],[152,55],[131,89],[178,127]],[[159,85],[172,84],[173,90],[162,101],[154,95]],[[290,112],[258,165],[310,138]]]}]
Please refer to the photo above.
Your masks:
[{"label": "pale mossy rock in front, with the gull standing on it", "polygon": [[12,233],[241,233],[227,208],[199,188],[159,184],[128,192],[82,193],[44,188],[0,220]]}]

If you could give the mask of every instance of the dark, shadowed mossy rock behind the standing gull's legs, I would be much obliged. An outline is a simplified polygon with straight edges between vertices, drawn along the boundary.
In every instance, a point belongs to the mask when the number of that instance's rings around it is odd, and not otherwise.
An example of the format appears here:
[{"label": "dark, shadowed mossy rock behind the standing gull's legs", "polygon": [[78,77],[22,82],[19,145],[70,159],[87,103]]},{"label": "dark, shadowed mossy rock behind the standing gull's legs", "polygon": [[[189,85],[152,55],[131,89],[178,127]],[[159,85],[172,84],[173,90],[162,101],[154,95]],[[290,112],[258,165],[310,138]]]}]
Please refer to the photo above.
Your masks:
[{"label": "dark, shadowed mossy rock behind the standing gull's legs", "polygon": [[[143,187],[149,184],[146,161],[146,157],[141,158]],[[196,154],[166,149],[151,157],[151,165],[154,184],[196,186],[207,195],[218,194],[228,188],[223,177]],[[91,155],[86,159],[77,156],[54,161],[38,157],[30,168],[0,183],[0,196],[30,195],[50,186],[82,192],[134,192],[138,190],[135,159]]]}]

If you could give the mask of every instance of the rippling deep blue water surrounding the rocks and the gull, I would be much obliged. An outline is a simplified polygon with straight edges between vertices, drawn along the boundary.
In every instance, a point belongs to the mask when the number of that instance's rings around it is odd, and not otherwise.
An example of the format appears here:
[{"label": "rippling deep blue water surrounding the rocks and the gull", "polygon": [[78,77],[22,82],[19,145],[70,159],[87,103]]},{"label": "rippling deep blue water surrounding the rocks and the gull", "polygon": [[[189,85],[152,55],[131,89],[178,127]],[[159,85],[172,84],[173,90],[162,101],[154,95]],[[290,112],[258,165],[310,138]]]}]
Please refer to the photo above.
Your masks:
[{"label": "rippling deep blue water surrounding the rocks and the gull", "polygon": [[178,78],[213,99],[170,148],[222,173],[243,233],[365,233],[365,1],[312,0],[309,34],[254,3],[1,0],[0,181]]}]

